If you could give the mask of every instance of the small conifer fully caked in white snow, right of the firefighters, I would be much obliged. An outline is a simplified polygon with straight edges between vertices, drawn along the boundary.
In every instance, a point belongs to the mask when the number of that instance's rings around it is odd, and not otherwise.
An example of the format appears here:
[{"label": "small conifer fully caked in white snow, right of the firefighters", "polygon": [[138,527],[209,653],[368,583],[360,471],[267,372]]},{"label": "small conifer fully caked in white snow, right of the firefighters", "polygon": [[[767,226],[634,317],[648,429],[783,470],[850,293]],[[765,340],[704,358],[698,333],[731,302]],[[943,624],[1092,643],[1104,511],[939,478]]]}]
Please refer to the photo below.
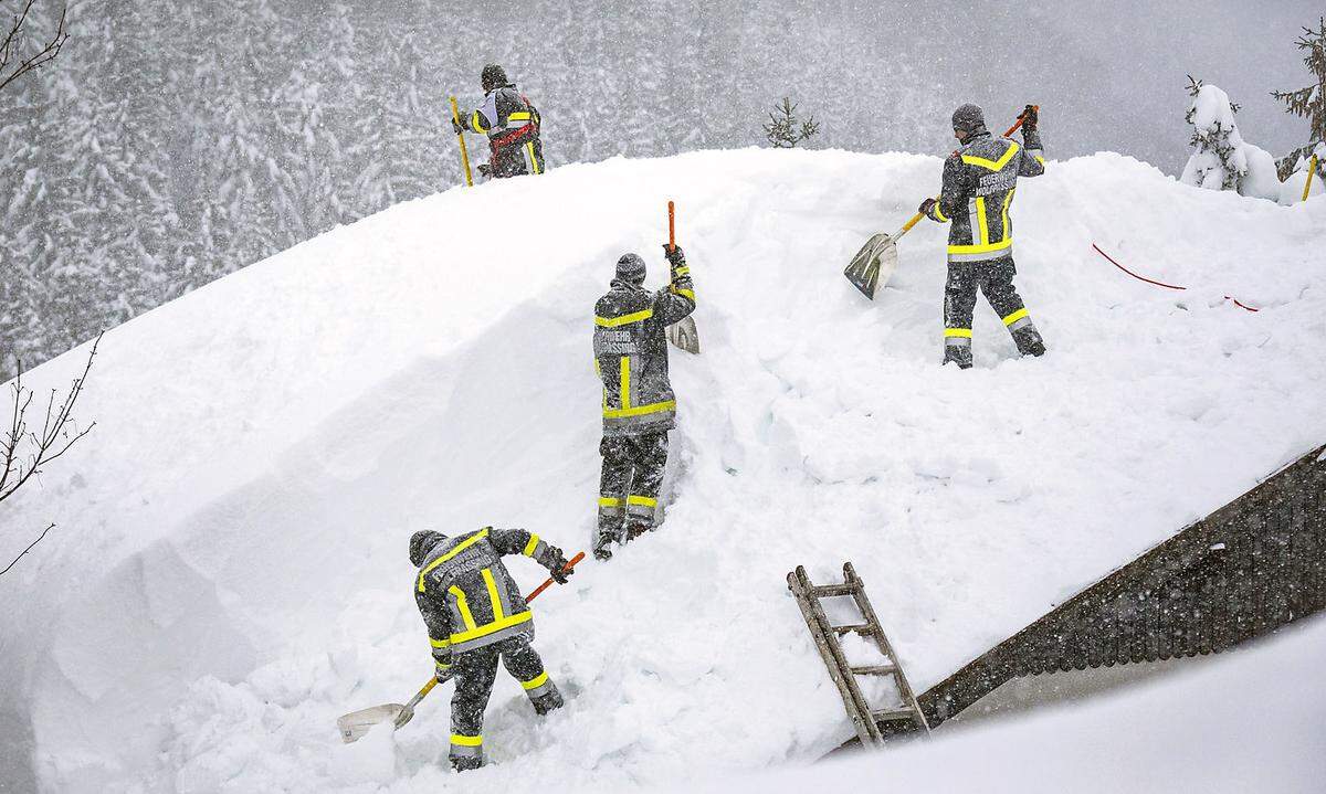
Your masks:
[{"label": "small conifer fully caked in white snow, right of the firefighters", "polygon": [[1192,77],[1188,82],[1192,103],[1184,119],[1193,127],[1189,143],[1196,151],[1188,158],[1179,180],[1207,190],[1232,190],[1242,196],[1278,199],[1276,159],[1238,134],[1238,125],[1235,123],[1238,106],[1213,85],[1203,85]]}]

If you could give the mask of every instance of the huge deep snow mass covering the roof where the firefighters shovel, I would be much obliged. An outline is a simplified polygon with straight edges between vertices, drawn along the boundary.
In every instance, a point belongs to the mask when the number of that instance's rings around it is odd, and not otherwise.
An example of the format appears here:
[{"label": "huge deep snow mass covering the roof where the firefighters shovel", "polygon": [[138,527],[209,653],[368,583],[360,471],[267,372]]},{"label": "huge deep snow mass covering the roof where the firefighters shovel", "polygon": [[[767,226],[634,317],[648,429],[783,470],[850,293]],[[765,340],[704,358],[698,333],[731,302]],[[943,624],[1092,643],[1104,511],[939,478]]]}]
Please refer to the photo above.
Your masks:
[{"label": "huge deep snow mass covering the roof where the firefighters shovel", "polygon": [[[931,156],[700,152],[403,204],[107,334],[98,428],[7,502],[4,753],[45,790],[621,789],[813,760],[851,736],[784,575],[851,559],[923,689],[1326,439],[1326,225],[1111,154],[1025,182],[1020,282],[1044,359],[987,306],[941,358],[944,229],[874,305],[841,270],[937,188]],[[696,277],[662,529],[536,603],[569,708],[504,675],[495,764],[440,766],[442,688],[395,737],[334,718],[430,675],[408,534],[587,545],[591,309],[623,251]],[[1132,281],[1091,249],[1187,284]],[[1223,296],[1260,306],[1235,308]],[[32,374],[40,391],[74,351]],[[533,586],[532,565],[512,563]],[[29,720],[30,712],[30,720]]]}]

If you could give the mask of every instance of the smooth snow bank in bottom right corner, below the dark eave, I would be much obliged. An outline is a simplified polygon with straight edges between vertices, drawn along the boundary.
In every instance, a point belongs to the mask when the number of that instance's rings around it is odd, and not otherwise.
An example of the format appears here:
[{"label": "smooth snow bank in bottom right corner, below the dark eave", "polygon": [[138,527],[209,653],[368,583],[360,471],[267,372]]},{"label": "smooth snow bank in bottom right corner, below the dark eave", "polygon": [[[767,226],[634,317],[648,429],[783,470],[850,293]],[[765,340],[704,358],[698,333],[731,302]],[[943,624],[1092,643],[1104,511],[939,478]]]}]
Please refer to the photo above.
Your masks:
[{"label": "smooth snow bank in bottom right corner, below the dark eave", "polygon": [[667,790],[800,794],[871,779],[904,791],[1318,794],[1326,779],[1326,688],[1315,685],[1323,653],[1326,620],[1315,618],[1144,685],[1024,720],[948,729],[930,742],[814,769]]}]

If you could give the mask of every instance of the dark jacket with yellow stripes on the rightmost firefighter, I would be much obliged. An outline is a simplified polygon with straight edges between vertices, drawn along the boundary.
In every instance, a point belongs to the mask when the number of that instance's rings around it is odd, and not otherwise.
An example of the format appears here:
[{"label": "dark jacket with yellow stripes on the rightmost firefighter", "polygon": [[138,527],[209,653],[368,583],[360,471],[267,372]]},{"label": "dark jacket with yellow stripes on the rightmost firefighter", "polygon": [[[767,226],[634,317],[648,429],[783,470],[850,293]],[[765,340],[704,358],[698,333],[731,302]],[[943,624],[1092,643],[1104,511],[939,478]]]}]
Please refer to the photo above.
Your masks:
[{"label": "dark jacket with yellow stripes on the rightmost firefighter", "polygon": [[1045,174],[1041,135],[1022,143],[977,133],[944,162],[944,187],[927,213],[948,229],[948,261],[979,262],[1013,255],[1013,204],[1018,176]]}]

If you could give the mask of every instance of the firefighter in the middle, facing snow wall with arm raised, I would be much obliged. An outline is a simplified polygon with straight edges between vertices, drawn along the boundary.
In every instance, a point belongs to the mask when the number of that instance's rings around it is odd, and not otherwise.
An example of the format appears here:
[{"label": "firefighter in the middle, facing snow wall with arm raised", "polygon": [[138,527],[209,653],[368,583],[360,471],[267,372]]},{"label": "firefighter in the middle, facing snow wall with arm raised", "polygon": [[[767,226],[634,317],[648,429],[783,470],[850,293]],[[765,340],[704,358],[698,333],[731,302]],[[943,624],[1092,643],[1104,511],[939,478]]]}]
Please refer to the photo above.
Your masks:
[{"label": "firefighter in the middle, facing snow wall with arm raised", "polygon": [[667,326],[695,312],[695,285],[680,248],[663,245],[672,278],[644,289],[644,260],[617,261],[613,289],[594,306],[594,365],[603,384],[603,471],[598,489],[594,557],[654,528],[667,465],[667,431],[676,425],[676,395],[667,376]]}]

